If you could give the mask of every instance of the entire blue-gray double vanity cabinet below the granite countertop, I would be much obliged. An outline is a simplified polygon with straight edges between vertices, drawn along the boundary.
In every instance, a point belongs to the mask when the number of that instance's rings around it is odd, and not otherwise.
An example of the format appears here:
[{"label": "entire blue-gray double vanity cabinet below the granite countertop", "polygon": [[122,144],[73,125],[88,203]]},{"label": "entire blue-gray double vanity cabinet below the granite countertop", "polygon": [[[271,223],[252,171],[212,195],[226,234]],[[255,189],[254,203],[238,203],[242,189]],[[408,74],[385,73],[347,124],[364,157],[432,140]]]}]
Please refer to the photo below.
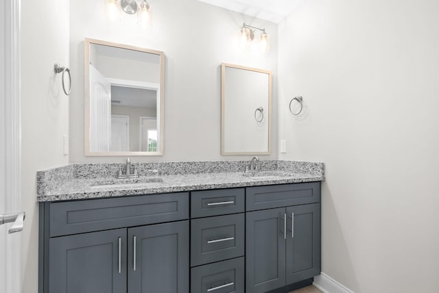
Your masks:
[{"label": "entire blue-gray double vanity cabinet below the granite countertop", "polygon": [[39,215],[39,293],[265,293],[320,274],[320,182],[46,202]]}]

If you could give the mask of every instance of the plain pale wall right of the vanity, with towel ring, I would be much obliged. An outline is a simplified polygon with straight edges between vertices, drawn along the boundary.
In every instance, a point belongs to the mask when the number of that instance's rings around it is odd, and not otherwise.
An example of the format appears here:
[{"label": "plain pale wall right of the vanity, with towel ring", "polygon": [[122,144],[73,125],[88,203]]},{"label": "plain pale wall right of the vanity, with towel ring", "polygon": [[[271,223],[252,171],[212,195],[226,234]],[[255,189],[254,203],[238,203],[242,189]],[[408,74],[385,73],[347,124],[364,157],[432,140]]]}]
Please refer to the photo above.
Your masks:
[{"label": "plain pale wall right of the vanity, with towel ring", "polygon": [[307,0],[279,24],[279,158],[325,162],[322,271],[356,293],[438,291],[438,11]]}]

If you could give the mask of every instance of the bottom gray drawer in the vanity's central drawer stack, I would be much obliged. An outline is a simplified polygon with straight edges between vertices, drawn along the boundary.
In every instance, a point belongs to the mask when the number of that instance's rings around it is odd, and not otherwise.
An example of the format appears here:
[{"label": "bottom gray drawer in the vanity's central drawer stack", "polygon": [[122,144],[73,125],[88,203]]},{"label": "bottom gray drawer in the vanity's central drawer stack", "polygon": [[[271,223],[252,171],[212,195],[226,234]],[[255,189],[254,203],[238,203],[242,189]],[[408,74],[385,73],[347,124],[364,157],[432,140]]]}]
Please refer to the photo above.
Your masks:
[{"label": "bottom gray drawer in the vanity's central drawer stack", "polygon": [[191,268],[191,293],[244,293],[244,257]]}]

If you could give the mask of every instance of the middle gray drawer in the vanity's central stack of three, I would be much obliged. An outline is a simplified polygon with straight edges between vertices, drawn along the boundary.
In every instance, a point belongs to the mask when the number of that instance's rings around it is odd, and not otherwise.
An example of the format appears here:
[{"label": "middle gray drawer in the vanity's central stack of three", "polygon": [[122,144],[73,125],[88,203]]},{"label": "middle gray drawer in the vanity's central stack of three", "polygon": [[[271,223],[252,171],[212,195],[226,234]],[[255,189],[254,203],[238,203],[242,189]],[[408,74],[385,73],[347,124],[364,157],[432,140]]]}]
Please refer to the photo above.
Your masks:
[{"label": "middle gray drawer in the vanity's central stack of three", "polygon": [[191,220],[191,266],[243,256],[244,215],[241,213]]}]

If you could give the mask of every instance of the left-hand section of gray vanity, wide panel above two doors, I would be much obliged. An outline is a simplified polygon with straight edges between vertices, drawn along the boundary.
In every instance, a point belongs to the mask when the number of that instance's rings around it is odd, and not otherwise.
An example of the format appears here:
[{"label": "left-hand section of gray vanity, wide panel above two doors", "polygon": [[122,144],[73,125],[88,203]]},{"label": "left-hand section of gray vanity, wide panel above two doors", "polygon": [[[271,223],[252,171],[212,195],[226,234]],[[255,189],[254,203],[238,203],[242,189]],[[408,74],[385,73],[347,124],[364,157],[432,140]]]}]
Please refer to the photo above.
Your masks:
[{"label": "left-hand section of gray vanity, wide panel above two doors", "polygon": [[40,205],[40,293],[189,293],[189,192]]}]

